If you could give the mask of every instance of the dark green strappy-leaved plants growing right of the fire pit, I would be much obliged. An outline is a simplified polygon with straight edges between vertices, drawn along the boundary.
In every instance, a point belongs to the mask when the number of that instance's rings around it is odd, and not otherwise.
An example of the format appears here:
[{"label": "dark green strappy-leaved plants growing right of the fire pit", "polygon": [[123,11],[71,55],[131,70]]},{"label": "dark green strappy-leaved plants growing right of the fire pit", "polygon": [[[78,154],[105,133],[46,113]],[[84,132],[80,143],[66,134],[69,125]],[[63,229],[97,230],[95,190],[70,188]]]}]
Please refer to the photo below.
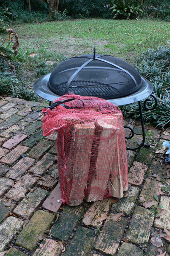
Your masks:
[{"label": "dark green strappy-leaved plants growing right of the fire pit", "polygon": [[[153,84],[153,93],[158,99],[158,105],[153,111],[142,108],[146,124],[170,127],[170,48],[157,47],[148,49],[136,63],[139,73]],[[138,104],[121,107],[128,117],[140,119]]]}]

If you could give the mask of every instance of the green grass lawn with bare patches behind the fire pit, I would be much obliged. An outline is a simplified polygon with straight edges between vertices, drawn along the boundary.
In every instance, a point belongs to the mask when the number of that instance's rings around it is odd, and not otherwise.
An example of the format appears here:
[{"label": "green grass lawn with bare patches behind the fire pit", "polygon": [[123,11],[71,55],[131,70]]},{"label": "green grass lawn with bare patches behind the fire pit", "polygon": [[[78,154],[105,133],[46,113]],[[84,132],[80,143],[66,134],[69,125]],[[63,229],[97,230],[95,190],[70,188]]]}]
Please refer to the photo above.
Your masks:
[{"label": "green grass lawn with bare patches behind the fire pit", "polygon": [[[23,79],[31,87],[65,58],[96,53],[134,64],[141,52],[170,41],[170,26],[161,20],[64,20],[14,25],[19,36]],[[34,58],[31,53],[37,53]],[[55,61],[54,66],[49,62]]]}]

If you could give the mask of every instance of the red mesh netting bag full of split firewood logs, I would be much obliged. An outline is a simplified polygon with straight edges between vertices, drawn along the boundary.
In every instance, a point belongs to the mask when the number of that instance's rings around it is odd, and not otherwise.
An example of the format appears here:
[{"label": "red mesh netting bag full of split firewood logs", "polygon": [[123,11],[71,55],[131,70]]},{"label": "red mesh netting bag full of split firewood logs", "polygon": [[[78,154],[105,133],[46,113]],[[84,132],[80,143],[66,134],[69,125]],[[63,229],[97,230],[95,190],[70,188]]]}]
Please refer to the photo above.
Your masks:
[{"label": "red mesh netting bag full of split firewood logs", "polygon": [[[70,100],[70,101],[69,101]],[[122,112],[105,99],[68,93],[43,109],[44,136],[57,131],[62,202],[121,198],[128,188]]]}]

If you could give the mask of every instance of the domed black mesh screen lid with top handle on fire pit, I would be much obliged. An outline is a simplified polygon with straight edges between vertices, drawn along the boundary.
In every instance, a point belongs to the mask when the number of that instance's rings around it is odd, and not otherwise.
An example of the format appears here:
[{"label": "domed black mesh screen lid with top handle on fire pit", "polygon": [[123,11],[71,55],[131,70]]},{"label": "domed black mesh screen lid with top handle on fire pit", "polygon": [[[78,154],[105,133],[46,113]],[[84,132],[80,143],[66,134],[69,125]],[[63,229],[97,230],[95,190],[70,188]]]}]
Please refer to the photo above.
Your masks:
[{"label": "domed black mesh screen lid with top handle on fire pit", "polygon": [[52,71],[48,86],[57,95],[67,92],[82,96],[116,99],[135,93],[142,86],[137,70],[110,55],[81,55],[69,58]]}]

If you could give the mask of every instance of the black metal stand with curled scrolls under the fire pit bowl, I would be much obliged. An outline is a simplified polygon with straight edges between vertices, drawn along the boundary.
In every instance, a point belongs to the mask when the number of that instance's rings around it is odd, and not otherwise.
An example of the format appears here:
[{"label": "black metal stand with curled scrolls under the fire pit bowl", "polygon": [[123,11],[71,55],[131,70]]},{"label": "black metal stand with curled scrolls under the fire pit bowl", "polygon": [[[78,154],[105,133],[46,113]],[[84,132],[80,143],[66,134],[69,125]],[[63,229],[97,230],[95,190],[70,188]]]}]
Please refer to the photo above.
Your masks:
[{"label": "black metal stand with curled scrolls under the fire pit bowl", "polygon": [[[153,94],[150,94],[150,96],[153,97],[155,103],[153,104],[152,107],[147,107],[146,103],[147,103],[147,102],[151,102],[152,100],[151,100],[151,99],[145,99],[143,105],[144,105],[144,108],[145,108],[147,111],[151,111],[151,110],[155,109],[156,106],[157,106],[157,104],[158,104],[158,101],[157,101],[157,99],[156,99],[156,96],[154,96]],[[129,149],[129,150],[137,150],[137,149],[140,149],[140,148],[144,145],[144,142],[145,142],[144,122],[143,122],[143,117],[142,117],[142,108],[141,108],[141,102],[140,102],[140,101],[138,102],[138,105],[139,105],[139,113],[140,113],[140,118],[141,118],[143,140],[142,140],[142,143],[139,145],[139,147],[136,147],[136,148],[129,148],[129,147],[126,147],[126,148]],[[133,138],[133,136],[134,136],[134,134],[135,134],[134,131],[133,131],[133,129],[132,129],[131,127],[127,126],[127,125],[125,125],[124,128],[128,128],[128,129],[130,129],[130,131],[131,131],[131,136],[129,136],[129,137],[126,137],[126,136],[125,136],[125,139],[129,140],[129,139]]]}]

